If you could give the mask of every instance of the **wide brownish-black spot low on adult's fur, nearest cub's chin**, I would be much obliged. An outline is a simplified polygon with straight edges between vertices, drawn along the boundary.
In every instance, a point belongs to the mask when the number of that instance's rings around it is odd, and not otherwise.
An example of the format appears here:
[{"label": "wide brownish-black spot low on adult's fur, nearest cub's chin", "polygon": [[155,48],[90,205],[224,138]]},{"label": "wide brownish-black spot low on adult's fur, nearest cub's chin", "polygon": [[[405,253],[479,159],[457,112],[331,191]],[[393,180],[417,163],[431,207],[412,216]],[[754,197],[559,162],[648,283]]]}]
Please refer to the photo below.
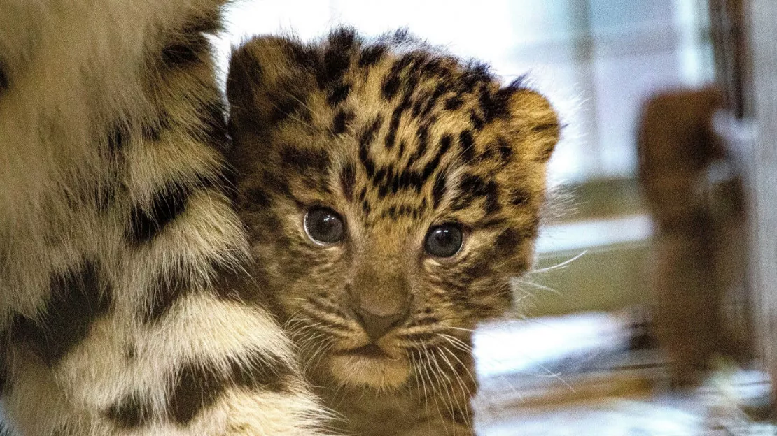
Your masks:
[{"label": "wide brownish-black spot low on adult's fur, nearest cub's chin", "polygon": [[265,390],[280,393],[284,381],[294,375],[280,358],[267,352],[253,351],[232,357],[226,372],[207,363],[183,365],[169,395],[168,414],[178,424],[189,424],[202,410],[211,407],[226,389]]}]

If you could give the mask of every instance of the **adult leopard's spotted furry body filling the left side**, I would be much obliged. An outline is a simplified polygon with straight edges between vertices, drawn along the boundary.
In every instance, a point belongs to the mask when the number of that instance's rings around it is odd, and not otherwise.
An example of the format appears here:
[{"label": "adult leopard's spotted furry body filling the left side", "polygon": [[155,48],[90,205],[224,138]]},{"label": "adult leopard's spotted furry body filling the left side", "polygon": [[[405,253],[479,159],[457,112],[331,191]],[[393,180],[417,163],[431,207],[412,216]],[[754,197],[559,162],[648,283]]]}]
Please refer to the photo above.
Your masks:
[{"label": "adult leopard's spotted furry body filling the left side", "polygon": [[231,288],[221,3],[0,0],[0,434],[324,434]]}]

